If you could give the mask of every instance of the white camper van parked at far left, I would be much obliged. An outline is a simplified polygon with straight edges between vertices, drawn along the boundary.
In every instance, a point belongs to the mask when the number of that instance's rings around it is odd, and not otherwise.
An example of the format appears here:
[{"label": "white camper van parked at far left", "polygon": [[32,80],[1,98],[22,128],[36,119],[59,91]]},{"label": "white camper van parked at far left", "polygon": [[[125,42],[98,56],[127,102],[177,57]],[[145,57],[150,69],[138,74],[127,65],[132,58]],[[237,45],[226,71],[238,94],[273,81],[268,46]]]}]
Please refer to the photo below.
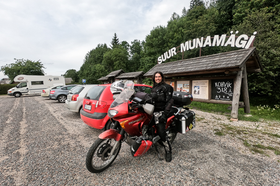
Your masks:
[{"label": "white camper van parked at far left", "polygon": [[63,76],[30,76],[18,75],[14,82],[19,82],[16,87],[8,90],[8,95],[20,97],[21,95],[41,94],[43,89],[51,86],[65,85]]}]

